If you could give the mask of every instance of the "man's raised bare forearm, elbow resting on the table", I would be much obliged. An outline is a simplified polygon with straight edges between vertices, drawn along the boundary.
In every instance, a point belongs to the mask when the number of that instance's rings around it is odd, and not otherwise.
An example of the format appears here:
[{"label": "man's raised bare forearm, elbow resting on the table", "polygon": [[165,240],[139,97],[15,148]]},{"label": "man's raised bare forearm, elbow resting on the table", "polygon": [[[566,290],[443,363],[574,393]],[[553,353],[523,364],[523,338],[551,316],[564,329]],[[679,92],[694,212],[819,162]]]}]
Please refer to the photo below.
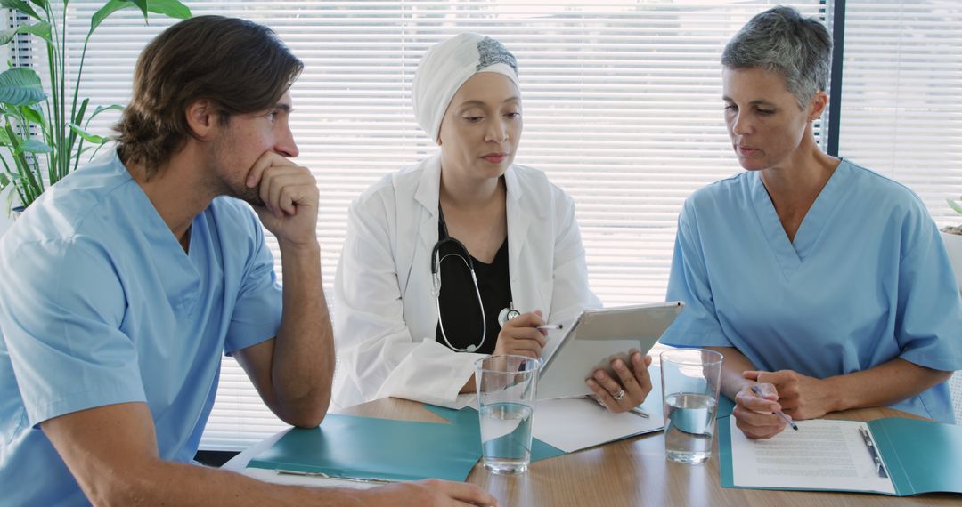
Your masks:
[{"label": "man's raised bare forearm, elbow resting on the table", "polygon": [[314,426],[331,399],[334,332],[320,272],[320,247],[281,245],[284,313],[271,359],[274,397],[287,421]]}]

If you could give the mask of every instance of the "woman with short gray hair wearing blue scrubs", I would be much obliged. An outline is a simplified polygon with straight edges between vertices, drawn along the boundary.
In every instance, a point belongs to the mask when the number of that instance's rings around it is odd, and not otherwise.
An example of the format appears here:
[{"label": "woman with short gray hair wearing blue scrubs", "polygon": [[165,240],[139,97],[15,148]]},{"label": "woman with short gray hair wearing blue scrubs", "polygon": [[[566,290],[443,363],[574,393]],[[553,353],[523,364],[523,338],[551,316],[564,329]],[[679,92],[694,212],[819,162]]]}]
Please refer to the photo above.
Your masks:
[{"label": "woman with short gray hair wearing blue scrubs", "polygon": [[[686,309],[662,337],[724,355],[738,426],[889,405],[953,421],[962,300],[911,190],[822,152],[831,37],[778,7],[722,54],[722,102],[746,172],[696,191],[678,218],[668,300]],[[755,388],[760,394],[752,391]]]}]

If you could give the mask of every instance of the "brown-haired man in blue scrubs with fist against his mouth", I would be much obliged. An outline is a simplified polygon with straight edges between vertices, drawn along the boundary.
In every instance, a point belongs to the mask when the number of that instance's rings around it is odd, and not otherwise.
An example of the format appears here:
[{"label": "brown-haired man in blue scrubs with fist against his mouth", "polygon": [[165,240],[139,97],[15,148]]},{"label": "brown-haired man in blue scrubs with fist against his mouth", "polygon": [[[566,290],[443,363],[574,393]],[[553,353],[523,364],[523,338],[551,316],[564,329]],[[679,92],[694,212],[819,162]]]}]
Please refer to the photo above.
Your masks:
[{"label": "brown-haired man in blue scrubs with fist against his mouth", "polygon": [[494,503],[443,481],[308,490],[190,465],[223,352],[285,422],[316,426],[327,411],[318,191],[291,161],[288,124],[301,68],[261,25],[174,25],[140,56],[116,152],[0,240],[5,504]]}]

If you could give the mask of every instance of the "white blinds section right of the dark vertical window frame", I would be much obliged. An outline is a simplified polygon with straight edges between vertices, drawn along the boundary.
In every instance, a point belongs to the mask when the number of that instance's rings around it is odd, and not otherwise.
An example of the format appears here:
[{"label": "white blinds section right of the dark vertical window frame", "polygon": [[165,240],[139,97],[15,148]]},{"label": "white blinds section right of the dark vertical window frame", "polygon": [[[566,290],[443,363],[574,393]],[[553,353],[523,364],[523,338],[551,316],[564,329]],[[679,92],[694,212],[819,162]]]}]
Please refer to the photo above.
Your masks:
[{"label": "white blinds section right of the dark vertical window frame", "polygon": [[839,155],[962,224],[962,4],[848,0],[844,62]]}]

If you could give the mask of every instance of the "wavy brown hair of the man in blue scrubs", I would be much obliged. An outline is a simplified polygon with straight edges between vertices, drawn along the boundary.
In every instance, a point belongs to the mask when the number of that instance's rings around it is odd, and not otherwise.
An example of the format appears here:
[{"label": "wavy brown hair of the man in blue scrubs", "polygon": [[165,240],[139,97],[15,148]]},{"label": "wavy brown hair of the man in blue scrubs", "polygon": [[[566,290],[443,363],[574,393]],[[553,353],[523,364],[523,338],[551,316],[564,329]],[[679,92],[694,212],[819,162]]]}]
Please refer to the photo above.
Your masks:
[{"label": "wavy brown hair of the man in blue scrubs", "polygon": [[264,25],[205,15],[166,29],[144,48],[130,104],[114,126],[117,153],[154,176],[188,137],[187,107],[209,100],[221,123],[273,107],[304,64]]}]

